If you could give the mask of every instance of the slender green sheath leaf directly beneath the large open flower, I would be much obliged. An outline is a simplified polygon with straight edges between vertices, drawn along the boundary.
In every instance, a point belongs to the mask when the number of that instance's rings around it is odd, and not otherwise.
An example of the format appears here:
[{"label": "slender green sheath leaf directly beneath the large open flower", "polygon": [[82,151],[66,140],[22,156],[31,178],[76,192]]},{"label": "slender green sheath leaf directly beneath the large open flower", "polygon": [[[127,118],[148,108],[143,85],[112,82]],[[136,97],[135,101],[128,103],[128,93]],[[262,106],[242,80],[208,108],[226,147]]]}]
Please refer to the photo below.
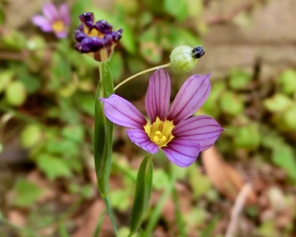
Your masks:
[{"label": "slender green sheath leaf directly beneath the large open flower", "polygon": [[145,156],[138,170],[136,191],[131,210],[131,234],[135,233],[141,225],[142,218],[150,199],[153,178],[153,163],[151,156],[150,153]]}]

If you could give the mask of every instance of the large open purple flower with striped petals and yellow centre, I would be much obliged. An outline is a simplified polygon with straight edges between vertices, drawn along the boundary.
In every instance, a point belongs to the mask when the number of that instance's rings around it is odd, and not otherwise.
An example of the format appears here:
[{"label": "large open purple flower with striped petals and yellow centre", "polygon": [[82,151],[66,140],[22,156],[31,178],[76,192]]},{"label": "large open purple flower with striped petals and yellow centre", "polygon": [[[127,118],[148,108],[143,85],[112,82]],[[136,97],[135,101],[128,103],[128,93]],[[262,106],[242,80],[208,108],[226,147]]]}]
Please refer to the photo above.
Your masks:
[{"label": "large open purple flower with striped petals and yellow centre", "polygon": [[[211,74],[211,73],[210,73]],[[224,130],[209,116],[192,116],[210,94],[210,74],[189,77],[170,103],[170,77],[158,69],[150,77],[145,107],[150,122],[130,102],[118,95],[100,98],[106,117],[129,127],[129,139],[150,153],[161,148],[174,164],[192,164],[200,151],[210,148]]]}]

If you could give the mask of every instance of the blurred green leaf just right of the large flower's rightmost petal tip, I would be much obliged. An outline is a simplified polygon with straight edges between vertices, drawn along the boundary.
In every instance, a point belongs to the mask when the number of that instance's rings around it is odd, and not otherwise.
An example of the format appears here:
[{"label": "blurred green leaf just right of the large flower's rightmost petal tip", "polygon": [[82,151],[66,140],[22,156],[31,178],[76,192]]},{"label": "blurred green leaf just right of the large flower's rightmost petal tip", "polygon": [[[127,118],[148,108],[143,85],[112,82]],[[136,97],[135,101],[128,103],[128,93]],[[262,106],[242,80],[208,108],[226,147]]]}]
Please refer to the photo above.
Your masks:
[{"label": "blurred green leaf just right of the large flower's rightmost petal tip", "polygon": [[262,136],[259,124],[252,123],[238,127],[234,136],[234,143],[238,148],[255,149],[261,144]]}]

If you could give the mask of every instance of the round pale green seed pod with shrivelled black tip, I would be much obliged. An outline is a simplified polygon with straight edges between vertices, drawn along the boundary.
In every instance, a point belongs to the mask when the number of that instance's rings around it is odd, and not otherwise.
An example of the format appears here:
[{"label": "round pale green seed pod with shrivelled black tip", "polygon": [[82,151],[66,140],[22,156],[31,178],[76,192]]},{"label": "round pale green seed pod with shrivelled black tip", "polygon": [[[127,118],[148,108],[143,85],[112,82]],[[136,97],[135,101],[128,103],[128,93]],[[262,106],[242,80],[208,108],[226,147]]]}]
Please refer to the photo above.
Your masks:
[{"label": "round pale green seed pod with shrivelled black tip", "polygon": [[204,54],[205,51],[202,46],[193,48],[188,45],[178,46],[170,54],[170,63],[178,73],[186,73],[195,67],[198,58]]}]

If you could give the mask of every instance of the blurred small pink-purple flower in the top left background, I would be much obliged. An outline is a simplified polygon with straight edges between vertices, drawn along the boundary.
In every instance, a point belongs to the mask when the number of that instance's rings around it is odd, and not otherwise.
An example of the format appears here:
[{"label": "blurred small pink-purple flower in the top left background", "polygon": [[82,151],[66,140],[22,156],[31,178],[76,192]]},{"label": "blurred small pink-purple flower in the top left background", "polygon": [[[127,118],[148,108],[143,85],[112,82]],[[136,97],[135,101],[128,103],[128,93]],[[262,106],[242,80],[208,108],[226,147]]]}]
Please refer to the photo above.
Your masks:
[{"label": "blurred small pink-purple flower in the top left background", "polygon": [[57,38],[67,37],[66,27],[71,21],[68,5],[64,3],[57,9],[52,3],[46,3],[42,12],[44,16],[33,16],[32,22],[44,32],[54,32]]}]

